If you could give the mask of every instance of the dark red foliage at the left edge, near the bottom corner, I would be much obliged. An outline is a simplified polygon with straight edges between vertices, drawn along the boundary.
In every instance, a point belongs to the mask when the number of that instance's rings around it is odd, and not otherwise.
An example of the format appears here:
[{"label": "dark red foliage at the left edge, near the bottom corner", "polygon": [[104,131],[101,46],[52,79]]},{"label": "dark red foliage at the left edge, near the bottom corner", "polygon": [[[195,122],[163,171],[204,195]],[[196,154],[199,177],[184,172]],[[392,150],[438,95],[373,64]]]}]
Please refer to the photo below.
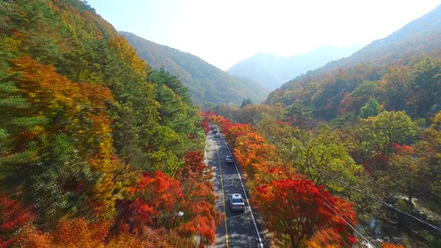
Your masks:
[{"label": "dark red foliage at the left edge, near the bottom corner", "polygon": [[32,207],[24,207],[17,200],[0,196],[0,247],[8,247],[17,240],[17,230],[30,224],[35,217]]}]

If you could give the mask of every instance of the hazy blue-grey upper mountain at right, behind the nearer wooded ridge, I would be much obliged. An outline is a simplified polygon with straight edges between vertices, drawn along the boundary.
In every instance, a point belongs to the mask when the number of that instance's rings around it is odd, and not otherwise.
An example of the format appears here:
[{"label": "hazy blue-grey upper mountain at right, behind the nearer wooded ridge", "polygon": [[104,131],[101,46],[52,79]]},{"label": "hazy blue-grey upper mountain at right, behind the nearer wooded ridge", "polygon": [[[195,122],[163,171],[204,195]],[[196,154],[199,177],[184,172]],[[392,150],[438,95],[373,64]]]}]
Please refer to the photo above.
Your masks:
[{"label": "hazy blue-grey upper mountain at right, behind the nearer wooded ridge", "polygon": [[434,54],[441,50],[441,5],[411,21],[384,39],[373,41],[352,56],[327,63],[310,74],[350,68],[363,62],[373,65],[407,63],[414,54]]}]

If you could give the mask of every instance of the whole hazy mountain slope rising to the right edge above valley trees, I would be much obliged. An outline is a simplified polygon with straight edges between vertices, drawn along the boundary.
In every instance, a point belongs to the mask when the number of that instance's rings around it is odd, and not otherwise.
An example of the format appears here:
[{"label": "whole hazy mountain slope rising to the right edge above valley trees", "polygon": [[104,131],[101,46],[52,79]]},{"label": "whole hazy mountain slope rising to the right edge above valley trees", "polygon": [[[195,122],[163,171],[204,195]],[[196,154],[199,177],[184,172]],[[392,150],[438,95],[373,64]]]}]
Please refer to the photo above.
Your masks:
[{"label": "whole hazy mountain slope rising to the right edge above valley trees", "polygon": [[314,117],[331,120],[360,114],[372,98],[384,110],[430,121],[441,110],[440,16],[438,6],[353,55],[288,81],[265,103],[314,109]]}]

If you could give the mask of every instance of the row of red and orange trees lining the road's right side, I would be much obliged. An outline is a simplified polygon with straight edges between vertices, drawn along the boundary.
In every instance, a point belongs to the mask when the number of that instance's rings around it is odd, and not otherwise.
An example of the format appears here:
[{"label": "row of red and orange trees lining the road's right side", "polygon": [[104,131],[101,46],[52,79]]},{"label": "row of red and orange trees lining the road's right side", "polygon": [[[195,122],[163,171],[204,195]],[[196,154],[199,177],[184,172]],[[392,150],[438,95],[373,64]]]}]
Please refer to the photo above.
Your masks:
[{"label": "row of red and orange trees lining the road's right side", "polygon": [[[250,187],[251,203],[263,215],[274,238],[289,237],[291,247],[342,247],[356,244],[357,224],[353,204],[331,196],[325,186],[285,166],[276,147],[247,125],[236,125],[223,116],[207,113],[210,121],[234,143],[234,156],[243,167]],[[348,224],[349,223],[349,224]]]}]

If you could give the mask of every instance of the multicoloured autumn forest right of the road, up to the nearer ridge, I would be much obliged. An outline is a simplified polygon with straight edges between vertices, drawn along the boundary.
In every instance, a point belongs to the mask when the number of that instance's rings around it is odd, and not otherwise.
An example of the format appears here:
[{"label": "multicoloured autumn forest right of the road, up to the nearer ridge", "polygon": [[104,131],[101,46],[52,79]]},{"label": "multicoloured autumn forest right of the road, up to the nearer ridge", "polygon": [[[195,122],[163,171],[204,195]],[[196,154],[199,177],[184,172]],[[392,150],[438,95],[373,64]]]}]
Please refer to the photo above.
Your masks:
[{"label": "multicoloured autumn forest right of the road, up to the nearer ridge", "polygon": [[300,76],[265,105],[214,108],[276,244],[441,246],[439,58]]}]

